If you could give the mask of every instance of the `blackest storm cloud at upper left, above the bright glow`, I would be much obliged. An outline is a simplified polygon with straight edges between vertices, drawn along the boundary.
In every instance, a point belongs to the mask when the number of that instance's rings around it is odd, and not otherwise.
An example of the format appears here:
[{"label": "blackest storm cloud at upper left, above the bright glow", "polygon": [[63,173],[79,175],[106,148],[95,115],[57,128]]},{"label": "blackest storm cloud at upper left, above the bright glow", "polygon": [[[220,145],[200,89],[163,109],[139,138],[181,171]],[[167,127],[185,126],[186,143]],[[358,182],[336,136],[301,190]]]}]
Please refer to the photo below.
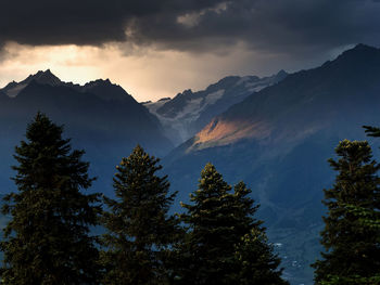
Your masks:
[{"label": "blackest storm cloud at upper left, above the bright glow", "polygon": [[0,7],[0,41],[28,44],[101,44],[107,41],[124,41],[125,29],[130,22],[198,11],[215,2],[5,0]]}]

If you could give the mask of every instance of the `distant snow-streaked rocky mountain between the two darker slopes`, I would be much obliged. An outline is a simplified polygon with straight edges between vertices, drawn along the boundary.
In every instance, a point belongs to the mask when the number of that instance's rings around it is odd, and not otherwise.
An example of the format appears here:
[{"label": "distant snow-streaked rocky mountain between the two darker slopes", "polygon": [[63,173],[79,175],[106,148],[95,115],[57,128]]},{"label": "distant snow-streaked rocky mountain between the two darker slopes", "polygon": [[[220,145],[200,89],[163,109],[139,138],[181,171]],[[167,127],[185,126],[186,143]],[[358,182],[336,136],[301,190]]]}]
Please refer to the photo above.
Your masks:
[{"label": "distant snow-streaked rocky mountain between the two darker slopes", "polygon": [[144,106],[160,119],[174,143],[179,144],[199,132],[214,116],[253,92],[281,81],[287,75],[280,70],[274,76],[264,78],[228,76],[205,90],[198,92],[185,90],[172,100],[145,102]]}]

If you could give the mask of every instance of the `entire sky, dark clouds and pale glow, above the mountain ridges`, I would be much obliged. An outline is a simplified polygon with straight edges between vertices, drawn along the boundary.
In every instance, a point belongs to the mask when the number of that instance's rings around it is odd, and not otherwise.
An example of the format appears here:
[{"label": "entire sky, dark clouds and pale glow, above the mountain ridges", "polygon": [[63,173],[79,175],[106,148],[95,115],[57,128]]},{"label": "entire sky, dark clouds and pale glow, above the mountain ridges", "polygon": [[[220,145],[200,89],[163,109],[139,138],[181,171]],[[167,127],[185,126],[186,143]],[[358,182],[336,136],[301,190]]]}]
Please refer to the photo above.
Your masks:
[{"label": "entire sky, dark clouds and pale glow, above the mountain ridges", "polygon": [[3,0],[0,87],[50,68],[138,101],[296,72],[380,46],[379,0]]}]

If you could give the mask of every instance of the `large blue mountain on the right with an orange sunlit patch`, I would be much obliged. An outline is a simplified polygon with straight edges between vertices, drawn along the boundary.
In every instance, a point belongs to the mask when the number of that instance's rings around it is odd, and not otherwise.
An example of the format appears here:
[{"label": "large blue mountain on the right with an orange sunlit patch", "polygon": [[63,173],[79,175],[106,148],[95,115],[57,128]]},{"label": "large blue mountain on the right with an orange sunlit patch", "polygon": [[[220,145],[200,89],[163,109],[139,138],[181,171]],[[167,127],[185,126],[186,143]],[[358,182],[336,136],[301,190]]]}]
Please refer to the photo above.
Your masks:
[{"label": "large blue mountain on the right with an orange sunlit patch", "polygon": [[[319,250],[322,189],[335,174],[327,159],[340,140],[368,140],[362,126],[379,126],[379,111],[380,50],[358,44],[216,116],[165,158],[165,169],[186,202],[207,161],[230,183],[246,182],[280,245],[287,276],[313,284],[308,264]],[[370,141],[379,158],[379,141]]]}]

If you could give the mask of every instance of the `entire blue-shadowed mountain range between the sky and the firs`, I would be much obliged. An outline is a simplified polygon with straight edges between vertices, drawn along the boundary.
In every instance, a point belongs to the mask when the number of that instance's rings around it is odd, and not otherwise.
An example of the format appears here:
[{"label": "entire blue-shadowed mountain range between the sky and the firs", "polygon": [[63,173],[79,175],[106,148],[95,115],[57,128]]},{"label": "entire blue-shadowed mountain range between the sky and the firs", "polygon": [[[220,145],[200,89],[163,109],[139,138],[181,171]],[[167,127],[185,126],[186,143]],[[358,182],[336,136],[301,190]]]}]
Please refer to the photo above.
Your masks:
[{"label": "entire blue-shadowed mountain range between the sky and the firs", "polygon": [[[327,159],[343,139],[380,125],[380,50],[358,44],[319,67],[293,74],[229,76],[202,91],[139,104],[110,80],[63,82],[50,70],[0,89],[0,187],[12,189],[12,153],[37,111],[65,124],[86,148],[93,191],[112,192],[114,167],[140,143],[163,157],[173,191],[188,202],[207,161],[230,183],[243,180],[261,204],[270,241],[291,284],[313,284],[320,250]],[[370,140],[378,157],[380,142]],[[176,146],[175,146],[176,145]]]}]

